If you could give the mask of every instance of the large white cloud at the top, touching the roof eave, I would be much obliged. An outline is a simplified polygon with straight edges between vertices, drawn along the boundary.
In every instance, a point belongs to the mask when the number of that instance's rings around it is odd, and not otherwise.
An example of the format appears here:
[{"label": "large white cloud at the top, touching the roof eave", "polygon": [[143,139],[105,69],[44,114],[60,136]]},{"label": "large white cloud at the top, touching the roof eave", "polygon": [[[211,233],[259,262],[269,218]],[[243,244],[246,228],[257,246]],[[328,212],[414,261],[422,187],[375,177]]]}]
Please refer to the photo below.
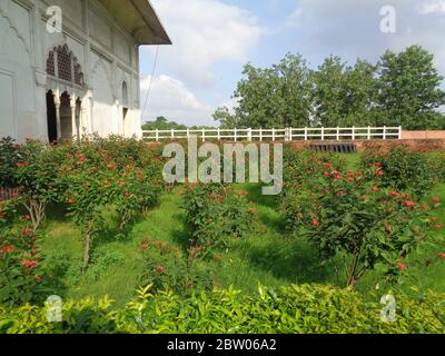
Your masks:
[{"label": "large white cloud at the top, touching the roof eave", "polygon": [[174,42],[161,48],[160,61],[175,77],[194,85],[211,83],[212,65],[219,60],[245,61],[264,32],[250,12],[218,0],[152,4]]}]

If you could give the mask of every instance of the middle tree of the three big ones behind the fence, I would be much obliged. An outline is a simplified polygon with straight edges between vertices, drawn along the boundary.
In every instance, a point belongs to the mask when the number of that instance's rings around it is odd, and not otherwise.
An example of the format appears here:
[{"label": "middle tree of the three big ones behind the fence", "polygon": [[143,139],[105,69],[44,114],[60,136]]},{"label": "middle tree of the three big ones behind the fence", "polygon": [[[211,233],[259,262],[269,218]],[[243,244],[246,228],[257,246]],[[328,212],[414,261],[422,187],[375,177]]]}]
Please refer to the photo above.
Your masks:
[{"label": "middle tree of the three big ones behind the fence", "polygon": [[312,73],[315,121],[324,127],[372,125],[375,67],[358,60],[348,67],[329,57]]}]

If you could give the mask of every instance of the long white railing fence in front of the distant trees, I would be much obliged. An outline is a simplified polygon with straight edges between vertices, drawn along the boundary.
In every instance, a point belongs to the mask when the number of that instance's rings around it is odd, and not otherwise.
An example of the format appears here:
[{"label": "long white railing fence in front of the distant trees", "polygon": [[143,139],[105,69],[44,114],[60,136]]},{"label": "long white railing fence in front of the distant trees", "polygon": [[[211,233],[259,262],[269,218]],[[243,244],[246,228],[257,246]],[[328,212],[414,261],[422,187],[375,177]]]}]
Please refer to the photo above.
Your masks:
[{"label": "long white railing fence in front of the distant trees", "polygon": [[295,141],[295,140],[372,140],[402,139],[402,127],[350,127],[303,129],[199,129],[199,130],[146,130],[147,141],[187,139],[190,136],[206,140],[225,141]]}]

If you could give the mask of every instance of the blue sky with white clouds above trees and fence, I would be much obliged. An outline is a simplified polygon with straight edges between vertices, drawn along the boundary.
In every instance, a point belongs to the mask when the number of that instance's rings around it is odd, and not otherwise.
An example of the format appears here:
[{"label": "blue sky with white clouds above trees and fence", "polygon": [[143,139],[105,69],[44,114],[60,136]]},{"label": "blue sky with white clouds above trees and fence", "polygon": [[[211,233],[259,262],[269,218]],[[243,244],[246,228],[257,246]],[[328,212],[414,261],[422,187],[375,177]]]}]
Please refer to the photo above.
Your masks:
[{"label": "blue sky with white clouds above trees and fence", "polygon": [[[244,65],[269,67],[287,52],[301,55],[316,69],[330,55],[349,63],[357,58],[376,62],[387,49],[421,44],[435,55],[436,68],[445,75],[445,0],[150,3],[172,46],[140,48],[142,122],[165,116],[188,126],[215,126],[212,112],[236,105],[231,96]],[[388,6],[394,17],[382,12]],[[382,31],[382,22],[395,27]]]}]

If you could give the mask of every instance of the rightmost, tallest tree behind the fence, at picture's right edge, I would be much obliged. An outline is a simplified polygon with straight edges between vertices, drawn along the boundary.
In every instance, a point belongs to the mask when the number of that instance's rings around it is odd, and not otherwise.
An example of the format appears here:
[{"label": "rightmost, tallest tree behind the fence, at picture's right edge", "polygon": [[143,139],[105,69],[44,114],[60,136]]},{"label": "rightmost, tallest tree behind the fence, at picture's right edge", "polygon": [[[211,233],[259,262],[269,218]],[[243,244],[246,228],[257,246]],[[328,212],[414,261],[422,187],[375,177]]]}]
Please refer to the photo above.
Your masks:
[{"label": "rightmost, tallest tree behind the fence, at picture's right edge", "polygon": [[405,129],[445,127],[436,109],[445,105],[444,79],[434,68],[434,56],[421,46],[396,55],[386,51],[378,63],[377,125]]}]

